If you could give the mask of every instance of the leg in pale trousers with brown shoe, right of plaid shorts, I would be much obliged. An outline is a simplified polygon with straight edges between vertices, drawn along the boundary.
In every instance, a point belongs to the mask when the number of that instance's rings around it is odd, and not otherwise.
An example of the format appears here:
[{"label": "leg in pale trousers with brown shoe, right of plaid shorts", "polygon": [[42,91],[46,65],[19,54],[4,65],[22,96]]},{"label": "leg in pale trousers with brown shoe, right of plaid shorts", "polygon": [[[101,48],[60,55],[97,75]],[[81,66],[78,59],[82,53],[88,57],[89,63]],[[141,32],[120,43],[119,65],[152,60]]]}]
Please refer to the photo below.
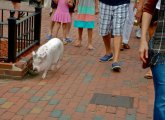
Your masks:
[{"label": "leg in pale trousers with brown shoe, right of plaid shorts", "polygon": [[122,40],[122,42],[123,42],[123,48],[125,48],[125,49],[130,48],[128,45],[128,42],[130,39],[130,35],[132,32],[133,23],[134,23],[134,19],[135,19],[133,7],[134,7],[134,3],[130,3],[128,15],[127,15],[127,18],[125,20],[125,24],[124,24],[124,28],[123,28],[123,34],[122,34],[123,40]]}]

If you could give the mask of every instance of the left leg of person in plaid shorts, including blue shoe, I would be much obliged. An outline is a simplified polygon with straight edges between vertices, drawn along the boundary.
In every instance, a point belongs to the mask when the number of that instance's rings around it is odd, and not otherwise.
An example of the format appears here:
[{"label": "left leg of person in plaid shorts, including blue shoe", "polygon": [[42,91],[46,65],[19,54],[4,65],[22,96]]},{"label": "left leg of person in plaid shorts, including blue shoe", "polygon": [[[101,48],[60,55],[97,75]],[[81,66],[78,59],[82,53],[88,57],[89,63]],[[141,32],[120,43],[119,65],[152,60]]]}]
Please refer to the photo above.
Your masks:
[{"label": "left leg of person in plaid shorts, including blue shoe", "polygon": [[112,26],[112,6],[106,5],[102,2],[99,4],[100,9],[100,25],[99,33],[103,38],[105,46],[105,55],[101,57],[100,62],[107,62],[113,59],[113,54],[111,50],[111,26]]}]

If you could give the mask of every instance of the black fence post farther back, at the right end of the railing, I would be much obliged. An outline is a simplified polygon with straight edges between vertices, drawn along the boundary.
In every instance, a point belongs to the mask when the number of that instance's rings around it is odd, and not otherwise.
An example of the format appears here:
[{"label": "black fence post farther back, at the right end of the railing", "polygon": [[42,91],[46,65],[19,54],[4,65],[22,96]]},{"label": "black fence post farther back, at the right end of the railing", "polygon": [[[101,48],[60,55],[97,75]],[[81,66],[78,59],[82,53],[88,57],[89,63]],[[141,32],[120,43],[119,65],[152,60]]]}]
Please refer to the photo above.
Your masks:
[{"label": "black fence post farther back, at the right end of the railing", "polygon": [[34,18],[34,40],[37,40],[37,45],[40,45],[40,35],[41,35],[41,14],[42,8],[35,7],[35,18]]}]

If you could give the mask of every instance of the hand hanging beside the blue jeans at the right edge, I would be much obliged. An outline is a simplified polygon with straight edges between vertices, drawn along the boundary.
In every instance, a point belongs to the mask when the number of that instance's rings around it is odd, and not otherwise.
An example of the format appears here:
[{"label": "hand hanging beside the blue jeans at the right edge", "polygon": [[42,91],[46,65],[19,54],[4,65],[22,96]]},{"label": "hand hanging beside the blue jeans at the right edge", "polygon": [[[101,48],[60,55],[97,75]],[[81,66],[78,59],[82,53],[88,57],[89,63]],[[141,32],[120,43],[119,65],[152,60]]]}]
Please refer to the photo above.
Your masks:
[{"label": "hand hanging beside the blue jeans at the right edge", "polygon": [[148,43],[146,41],[146,38],[141,38],[140,48],[139,48],[139,55],[140,59],[147,63],[148,59]]}]

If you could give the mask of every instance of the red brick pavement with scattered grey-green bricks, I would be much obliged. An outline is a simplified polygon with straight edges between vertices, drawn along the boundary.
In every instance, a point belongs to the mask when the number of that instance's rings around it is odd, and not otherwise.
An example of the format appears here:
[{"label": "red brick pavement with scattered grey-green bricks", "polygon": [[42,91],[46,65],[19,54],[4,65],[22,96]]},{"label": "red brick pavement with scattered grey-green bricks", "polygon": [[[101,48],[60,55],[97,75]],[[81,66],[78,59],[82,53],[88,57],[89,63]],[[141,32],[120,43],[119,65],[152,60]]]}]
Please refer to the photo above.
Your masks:
[{"label": "red brick pavement with scattered grey-green bricks", "polygon": [[[2,7],[3,6],[3,7]],[[0,7],[11,6],[0,2]],[[31,10],[27,3],[23,9]],[[48,9],[43,9],[42,40],[49,28]],[[24,80],[0,80],[0,120],[152,120],[154,89],[152,80],[144,79],[138,58],[139,40],[132,33],[130,50],[121,52],[122,71],[111,71],[111,63],[100,63],[104,46],[94,29],[95,50],[83,46],[65,46],[64,59],[58,71],[50,71],[45,80],[41,75],[28,75]],[[76,29],[71,36],[76,39]],[[60,34],[61,37],[61,34]],[[132,108],[91,104],[94,93],[132,97]]]}]

